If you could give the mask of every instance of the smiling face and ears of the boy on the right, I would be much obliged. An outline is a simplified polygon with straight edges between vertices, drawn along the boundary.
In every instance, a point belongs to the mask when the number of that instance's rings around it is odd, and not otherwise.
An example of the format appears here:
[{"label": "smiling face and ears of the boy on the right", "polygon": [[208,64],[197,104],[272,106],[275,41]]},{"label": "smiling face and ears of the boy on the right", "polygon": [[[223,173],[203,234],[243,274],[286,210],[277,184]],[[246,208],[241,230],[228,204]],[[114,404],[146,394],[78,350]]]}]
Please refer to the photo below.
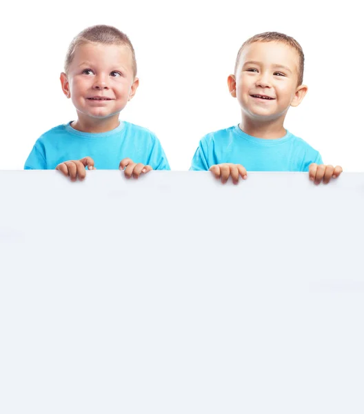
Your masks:
[{"label": "smiling face and ears of the boy on the right", "polygon": [[285,43],[255,42],[243,48],[236,75],[229,77],[243,114],[262,121],[284,119],[307,92],[306,86],[297,86],[298,65],[298,52]]}]

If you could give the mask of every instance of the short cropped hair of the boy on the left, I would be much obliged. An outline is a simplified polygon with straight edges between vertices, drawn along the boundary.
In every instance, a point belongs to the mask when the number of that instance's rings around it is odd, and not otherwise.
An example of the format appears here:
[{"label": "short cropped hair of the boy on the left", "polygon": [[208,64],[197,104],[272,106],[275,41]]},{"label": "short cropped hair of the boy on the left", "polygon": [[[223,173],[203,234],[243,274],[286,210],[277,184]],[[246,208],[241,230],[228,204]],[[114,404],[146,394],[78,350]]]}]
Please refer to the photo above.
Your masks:
[{"label": "short cropped hair of the boy on the left", "polygon": [[82,30],[82,32],[74,37],[68,47],[67,54],[65,55],[65,73],[68,73],[68,69],[70,68],[70,64],[74,57],[74,52],[79,46],[85,43],[127,46],[130,49],[130,52],[132,52],[132,69],[134,77],[136,76],[136,59],[132,42],[125,33],[113,26],[106,26],[104,24],[85,28],[85,30]]}]

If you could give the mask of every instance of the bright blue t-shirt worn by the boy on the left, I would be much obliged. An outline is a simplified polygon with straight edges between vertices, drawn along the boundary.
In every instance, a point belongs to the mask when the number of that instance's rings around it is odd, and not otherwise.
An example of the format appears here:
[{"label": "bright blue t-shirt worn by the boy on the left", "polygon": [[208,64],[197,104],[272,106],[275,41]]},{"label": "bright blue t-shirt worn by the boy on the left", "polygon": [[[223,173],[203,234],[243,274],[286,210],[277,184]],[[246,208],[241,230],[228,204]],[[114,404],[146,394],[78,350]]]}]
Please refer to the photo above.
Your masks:
[{"label": "bright blue t-shirt worn by the boy on the left", "polygon": [[121,121],[108,132],[81,132],[64,124],[45,132],[34,144],[24,169],[54,170],[70,159],[91,157],[99,170],[117,170],[124,158],[170,170],[159,139],[150,130]]}]

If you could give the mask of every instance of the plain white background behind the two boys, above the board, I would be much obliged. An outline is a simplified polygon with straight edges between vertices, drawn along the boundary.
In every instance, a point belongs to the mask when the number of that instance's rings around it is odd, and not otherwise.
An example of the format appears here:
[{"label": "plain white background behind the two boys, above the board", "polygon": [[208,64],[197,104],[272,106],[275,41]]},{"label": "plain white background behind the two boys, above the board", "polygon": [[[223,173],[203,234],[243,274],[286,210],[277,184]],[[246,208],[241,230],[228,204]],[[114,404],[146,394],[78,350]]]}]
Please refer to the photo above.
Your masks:
[{"label": "plain white background behind the two boys, above the board", "polygon": [[326,164],[364,170],[363,21],[359,2],[10,1],[1,11],[0,168],[22,169],[36,139],[75,117],[59,74],[83,28],[110,24],[130,37],[140,87],[121,119],[156,133],[173,170],[186,170],[199,139],[238,124],[226,79],[241,43],[267,30],[305,52],[309,92],[285,127]]}]

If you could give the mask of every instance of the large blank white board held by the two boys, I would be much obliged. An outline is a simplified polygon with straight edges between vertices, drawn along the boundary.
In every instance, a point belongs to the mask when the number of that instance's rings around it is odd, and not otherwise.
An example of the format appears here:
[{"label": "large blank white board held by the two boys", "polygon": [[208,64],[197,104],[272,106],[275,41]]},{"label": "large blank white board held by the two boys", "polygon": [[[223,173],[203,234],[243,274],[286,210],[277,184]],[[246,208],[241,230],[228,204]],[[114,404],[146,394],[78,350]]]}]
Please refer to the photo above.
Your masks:
[{"label": "large blank white board held by the two boys", "polygon": [[0,413],[363,413],[364,174],[0,172]]}]

